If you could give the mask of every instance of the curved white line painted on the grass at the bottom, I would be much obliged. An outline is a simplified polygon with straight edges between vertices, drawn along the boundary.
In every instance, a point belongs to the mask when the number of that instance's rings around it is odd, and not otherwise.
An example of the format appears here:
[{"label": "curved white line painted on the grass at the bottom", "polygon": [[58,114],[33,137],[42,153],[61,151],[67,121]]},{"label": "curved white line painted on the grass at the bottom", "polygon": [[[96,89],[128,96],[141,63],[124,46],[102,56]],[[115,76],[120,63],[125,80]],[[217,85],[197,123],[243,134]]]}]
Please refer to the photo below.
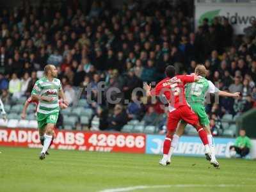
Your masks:
[{"label": "curved white line painted on the grass at the bottom", "polygon": [[175,185],[133,186],[133,187],[127,187],[127,188],[104,189],[99,192],[122,192],[122,191],[134,191],[136,189],[154,189],[154,188],[216,188],[216,187],[217,188],[237,188],[237,187],[245,187],[245,186],[246,185],[234,185],[234,184],[219,184],[219,185],[175,184]]}]

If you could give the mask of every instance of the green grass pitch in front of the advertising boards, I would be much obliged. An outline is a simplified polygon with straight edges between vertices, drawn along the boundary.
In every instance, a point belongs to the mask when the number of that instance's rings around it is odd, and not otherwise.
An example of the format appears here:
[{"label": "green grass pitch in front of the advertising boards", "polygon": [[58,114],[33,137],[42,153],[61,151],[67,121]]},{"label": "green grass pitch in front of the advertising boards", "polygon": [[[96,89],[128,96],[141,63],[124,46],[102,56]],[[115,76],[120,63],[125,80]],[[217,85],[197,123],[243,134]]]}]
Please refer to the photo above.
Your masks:
[{"label": "green grass pitch in front of the advertising boards", "polygon": [[[40,149],[0,147],[0,191],[100,191],[131,186],[172,186],[135,191],[255,191],[256,163],[220,159],[216,170],[200,157],[173,157],[172,165],[159,166],[161,156],[51,150],[44,161]],[[231,184],[239,186],[213,186]],[[211,186],[207,186],[211,185]]]}]

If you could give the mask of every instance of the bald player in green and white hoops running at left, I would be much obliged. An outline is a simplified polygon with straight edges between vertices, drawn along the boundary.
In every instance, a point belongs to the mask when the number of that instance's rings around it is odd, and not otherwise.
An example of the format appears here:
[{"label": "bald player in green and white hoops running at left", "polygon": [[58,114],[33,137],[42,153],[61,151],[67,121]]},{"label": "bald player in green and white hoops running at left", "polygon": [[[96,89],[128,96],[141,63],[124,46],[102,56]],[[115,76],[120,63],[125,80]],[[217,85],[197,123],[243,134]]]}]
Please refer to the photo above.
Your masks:
[{"label": "bald player in green and white hoops running at left", "polygon": [[59,102],[58,97],[68,106],[68,102],[61,88],[61,81],[57,79],[58,71],[54,65],[46,65],[45,76],[36,81],[31,92],[31,99],[38,100],[36,109],[37,122],[40,136],[44,136],[44,146],[40,154],[40,159],[45,158],[45,152],[53,136],[53,129],[58,120]]}]

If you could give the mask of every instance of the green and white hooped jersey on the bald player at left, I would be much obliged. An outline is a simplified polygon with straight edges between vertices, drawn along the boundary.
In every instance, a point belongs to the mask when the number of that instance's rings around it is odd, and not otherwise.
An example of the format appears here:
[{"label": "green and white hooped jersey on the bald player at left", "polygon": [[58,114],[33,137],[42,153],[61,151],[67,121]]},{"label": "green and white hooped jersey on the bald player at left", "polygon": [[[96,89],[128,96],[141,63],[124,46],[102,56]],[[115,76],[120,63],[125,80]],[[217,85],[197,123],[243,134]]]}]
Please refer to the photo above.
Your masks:
[{"label": "green and white hooped jersey on the bald player at left", "polygon": [[47,97],[54,97],[54,100],[47,102],[45,100],[40,100],[37,107],[37,112],[42,114],[49,114],[54,112],[59,112],[59,102],[58,102],[58,92],[61,90],[60,79],[54,78],[49,81],[47,77],[42,77],[36,81],[35,86],[31,92],[31,95],[40,95]]}]

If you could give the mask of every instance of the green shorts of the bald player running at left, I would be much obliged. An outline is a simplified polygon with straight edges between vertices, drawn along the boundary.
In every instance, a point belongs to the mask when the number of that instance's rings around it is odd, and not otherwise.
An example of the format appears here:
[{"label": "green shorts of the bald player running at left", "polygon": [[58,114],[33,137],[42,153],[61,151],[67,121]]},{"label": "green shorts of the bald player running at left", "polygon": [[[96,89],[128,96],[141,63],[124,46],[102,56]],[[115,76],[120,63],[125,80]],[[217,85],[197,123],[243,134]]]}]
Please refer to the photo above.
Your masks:
[{"label": "green shorts of the bald player running at left", "polygon": [[43,114],[43,113],[37,113],[37,124],[39,129],[44,129],[46,124],[56,124],[58,120],[59,113],[49,113],[49,114]]}]

